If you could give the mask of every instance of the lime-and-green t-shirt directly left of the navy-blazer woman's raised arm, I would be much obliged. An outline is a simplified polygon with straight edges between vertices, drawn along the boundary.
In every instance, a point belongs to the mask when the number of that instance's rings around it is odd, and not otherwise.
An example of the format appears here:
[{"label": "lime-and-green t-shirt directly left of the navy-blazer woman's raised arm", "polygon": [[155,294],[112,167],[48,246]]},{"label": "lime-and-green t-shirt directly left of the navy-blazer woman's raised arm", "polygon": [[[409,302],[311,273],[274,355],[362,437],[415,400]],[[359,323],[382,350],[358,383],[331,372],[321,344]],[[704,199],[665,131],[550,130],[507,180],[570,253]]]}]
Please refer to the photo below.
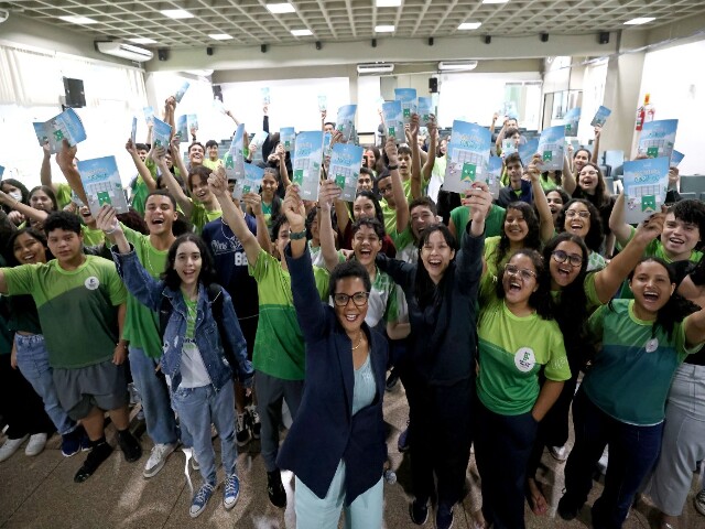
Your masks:
[{"label": "lime-and-green t-shirt directly left of the navy-blazer woman's raised arm", "polygon": [[[279,260],[260,250],[250,276],[257,281],[260,317],[254,337],[252,365],[256,370],[284,380],[303,380],[305,370],[304,337],[296,320],[291,277]],[[322,300],[328,296],[328,272],[313,268]]]}]

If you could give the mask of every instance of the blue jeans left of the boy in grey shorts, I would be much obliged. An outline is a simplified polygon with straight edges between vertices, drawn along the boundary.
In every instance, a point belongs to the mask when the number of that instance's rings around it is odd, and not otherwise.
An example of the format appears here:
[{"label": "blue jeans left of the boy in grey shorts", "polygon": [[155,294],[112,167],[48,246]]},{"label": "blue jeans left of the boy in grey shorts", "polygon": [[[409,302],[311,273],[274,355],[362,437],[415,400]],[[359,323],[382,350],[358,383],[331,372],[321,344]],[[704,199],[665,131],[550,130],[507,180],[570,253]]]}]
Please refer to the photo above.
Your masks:
[{"label": "blue jeans left of the boy in grey shorts", "polygon": [[41,334],[31,336],[15,334],[14,343],[18,348],[18,367],[32,385],[36,395],[44,401],[44,410],[56,427],[56,431],[62,435],[73,432],[76,429],[76,422],[58,403],[44,336]]}]

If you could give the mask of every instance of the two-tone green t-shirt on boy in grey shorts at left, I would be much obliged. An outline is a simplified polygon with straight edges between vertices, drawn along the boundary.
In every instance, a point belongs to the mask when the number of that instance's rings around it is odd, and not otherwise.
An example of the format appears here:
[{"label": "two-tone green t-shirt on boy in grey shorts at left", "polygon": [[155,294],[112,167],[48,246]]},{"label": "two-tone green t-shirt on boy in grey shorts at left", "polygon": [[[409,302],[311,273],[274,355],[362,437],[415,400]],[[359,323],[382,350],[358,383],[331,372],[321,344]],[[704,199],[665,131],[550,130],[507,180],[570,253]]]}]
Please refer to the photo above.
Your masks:
[{"label": "two-tone green t-shirt on boy in grey shorts at left", "polygon": [[86,256],[72,271],[56,259],[2,271],[10,295],[34,298],[52,367],[80,368],[112,358],[119,338],[117,305],[127,300],[112,261]]}]

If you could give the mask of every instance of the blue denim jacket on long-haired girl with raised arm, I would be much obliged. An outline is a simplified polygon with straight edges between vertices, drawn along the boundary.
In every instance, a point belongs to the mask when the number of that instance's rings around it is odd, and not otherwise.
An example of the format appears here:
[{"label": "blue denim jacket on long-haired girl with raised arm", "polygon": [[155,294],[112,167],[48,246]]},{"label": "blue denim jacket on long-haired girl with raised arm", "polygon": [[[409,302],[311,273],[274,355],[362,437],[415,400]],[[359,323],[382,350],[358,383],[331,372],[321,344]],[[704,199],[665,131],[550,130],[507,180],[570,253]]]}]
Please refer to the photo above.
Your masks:
[{"label": "blue denim jacket on long-haired girl with raised arm", "polygon": [[[112,258],[124,285],[140,303],[153,311],[159,311],[162,306],[162,298],[166,296],[172,304],[172,315],[164,331],[162,373],[171,378],[172,391],[175,391],[181,384],[181,355],[188,313],[184,296],[181,290],[173,290],[166,287],[164,281],[152,278],[139,261],[133,248],[129,253],[119,253],[113,248]],[[223,338],[230,341],[230,347],[238,359],[238,366],[232,367],[238,370],[238,379],[247,385],[251,381],[254,373],[252,364],[247,359],[247,344],[232,307],[232,300],[224,289],[220,289],[219,295],[225,296],[223,300],[223,328],[229,330]],[[199,283],[194,336],[208,371],[210,384],[216,390],[219,390],[232,377],[232,369],[225,358],[218,324],[213,317],[210,304],[206,288]]]}]

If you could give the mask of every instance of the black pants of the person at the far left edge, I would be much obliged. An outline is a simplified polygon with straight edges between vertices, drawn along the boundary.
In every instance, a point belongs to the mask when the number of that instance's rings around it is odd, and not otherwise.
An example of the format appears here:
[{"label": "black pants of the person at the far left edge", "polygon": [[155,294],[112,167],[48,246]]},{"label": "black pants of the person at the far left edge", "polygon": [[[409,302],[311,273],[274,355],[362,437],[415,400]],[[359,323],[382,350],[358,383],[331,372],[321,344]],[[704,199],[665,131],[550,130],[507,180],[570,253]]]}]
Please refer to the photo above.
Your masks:
[{"label": "black pants of the person at the far left edge", "polygon": [[0,414],[8,423],[9,439],[55,430],[32,385],[19,369],[12,369],[9,354],[0,355]]}]

